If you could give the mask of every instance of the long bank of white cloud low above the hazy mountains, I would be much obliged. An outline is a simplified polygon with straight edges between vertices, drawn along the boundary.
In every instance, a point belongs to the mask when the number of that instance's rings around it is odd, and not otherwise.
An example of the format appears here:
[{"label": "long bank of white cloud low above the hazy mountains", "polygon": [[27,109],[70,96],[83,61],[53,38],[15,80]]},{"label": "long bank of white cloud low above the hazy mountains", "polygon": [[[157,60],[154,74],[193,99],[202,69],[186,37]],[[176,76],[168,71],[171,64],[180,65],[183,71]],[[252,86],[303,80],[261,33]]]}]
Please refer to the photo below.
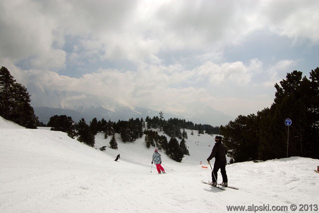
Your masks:
[{"label": "long bank of white cloud low above the hazy mountains", "polygon": [[[197,103],[197,106],[209,105],[234,116],[234,113],[240,109],[247,109],[239,105],[239,108],[234,110],[228,106],[229,101],[225,100],[250,102],[254,106],[254,100],[235,97],[241,96],[240,93],[244,88],[251,85],[247,79],[250,79],[250,69],[254,67],[252,64],[259,63],[256,61],[254,60],[248,66],[242,62],[232,64],[207,62],[200,69],[191,71],[183,71],[180,65],[168,67],[153,65],[150,70],[145,69],[139,72],[108,69],[85,74],[80,78],[70,78],[55,72],[40,70],[20,71],[18,76],[24,82],[37,82],[43,85],[42,87],[52,90],[78,91],[106,96],[124,103],[153,109],[185,112],[189,110],[192,103]],[[212,75],[212,72],[216,70],[217,74]],[[208,85],[196,85],[196,81],[193,81],[199,78],[204,81],[209,77],[214,82]],[[215,84],[217,80],[220,85]],[[187,85],[183,86],[184,82],[188,82]],[[225,92],[225,88],[232,91],[231,96],[220,96]],[[257,100],[257,102],[261,101]]]}]

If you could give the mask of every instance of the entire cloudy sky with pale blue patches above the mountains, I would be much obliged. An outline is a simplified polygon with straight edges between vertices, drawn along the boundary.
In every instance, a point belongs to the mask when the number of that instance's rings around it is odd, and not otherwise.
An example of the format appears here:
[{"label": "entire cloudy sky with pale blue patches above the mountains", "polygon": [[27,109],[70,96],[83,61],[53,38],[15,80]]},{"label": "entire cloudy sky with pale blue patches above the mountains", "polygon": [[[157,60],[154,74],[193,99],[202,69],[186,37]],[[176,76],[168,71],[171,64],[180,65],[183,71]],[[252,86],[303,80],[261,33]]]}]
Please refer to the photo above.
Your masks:
[{"label": "entire cloudy sky with pale blue patches above the mountains", "polygon": [[0,66],[23,85],[236,117],[271,106],[288,72],[319,66],[318,10],[319,0],[1,0]]}]

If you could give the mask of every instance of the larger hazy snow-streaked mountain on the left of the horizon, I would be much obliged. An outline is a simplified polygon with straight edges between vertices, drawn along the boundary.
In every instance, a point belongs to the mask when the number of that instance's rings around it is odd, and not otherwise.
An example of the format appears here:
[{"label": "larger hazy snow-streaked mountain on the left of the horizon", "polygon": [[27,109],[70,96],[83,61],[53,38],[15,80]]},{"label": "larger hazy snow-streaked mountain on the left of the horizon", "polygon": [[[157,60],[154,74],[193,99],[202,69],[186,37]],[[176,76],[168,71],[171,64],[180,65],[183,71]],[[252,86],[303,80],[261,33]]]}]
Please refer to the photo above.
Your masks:
[{"label": "larger hazy snow-streaked mountain on the left of the horizon", "polygon": [[108,97],[58,90],[38,90],[30,87],[31,105],[39,120],[47,123],[53,115],[66,114],[74,121],[84,118],[87,122],[94,117],[98,120],[128,120],[147,115],[156,116],[159,112],[140,107],[128,106]]}]

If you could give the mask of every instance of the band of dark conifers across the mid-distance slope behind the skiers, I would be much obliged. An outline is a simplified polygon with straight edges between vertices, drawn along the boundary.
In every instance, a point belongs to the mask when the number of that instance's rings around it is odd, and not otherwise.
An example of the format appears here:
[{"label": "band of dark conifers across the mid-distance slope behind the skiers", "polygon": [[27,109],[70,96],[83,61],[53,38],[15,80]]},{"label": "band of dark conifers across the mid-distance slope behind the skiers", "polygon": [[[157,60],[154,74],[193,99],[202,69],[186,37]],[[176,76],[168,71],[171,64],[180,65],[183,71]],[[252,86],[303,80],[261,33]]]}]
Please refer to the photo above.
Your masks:
[{"label": "band of dark conifers across the mid-distance slope behind the skiers", "polygon": [[[176,120],[178,119],[169,119],[167,123],[163,122],[165,123],[163,129],[166,129],[166,125],[171,126],[170,122],[175,122]],[[145,134],[145,143],[148,148],[153,146],[164,150],[171,159],[177,162],[180,162],[184,155],[189,155],[185,144],[185,139],[188,138],[185,129],[183,129],[183,132],[180,129],[176,129],[176,135],[170,136],[171,138],[167,142],[166,136],[159,135],[158,131],[152,130],[150,126],[147,127],[143,118],[131,118],[128,121],[119,120],[118,122],[112,122],[111,120],[107,122],[104,118],[98,121],[96,118],[93,118],[90,124],[87,124],[84,118],[76,123],[69,116],[54,115],[50,117],[47,125],[51,127],[51,130],[68,133],[72,138],[77,136],[77,140],[92,147],[95,144],[95,135],[98,132],[104,132],[105,138],[111,136],[110,148],[112,149],[118,148],[115,133],[120,134],[123,142],[134,142]],[[165,132],[163,131],[163,133]],[[179,138],[180,142],[175,137]],[[101,147],[100,149],[103,151],[105,148]]]}]

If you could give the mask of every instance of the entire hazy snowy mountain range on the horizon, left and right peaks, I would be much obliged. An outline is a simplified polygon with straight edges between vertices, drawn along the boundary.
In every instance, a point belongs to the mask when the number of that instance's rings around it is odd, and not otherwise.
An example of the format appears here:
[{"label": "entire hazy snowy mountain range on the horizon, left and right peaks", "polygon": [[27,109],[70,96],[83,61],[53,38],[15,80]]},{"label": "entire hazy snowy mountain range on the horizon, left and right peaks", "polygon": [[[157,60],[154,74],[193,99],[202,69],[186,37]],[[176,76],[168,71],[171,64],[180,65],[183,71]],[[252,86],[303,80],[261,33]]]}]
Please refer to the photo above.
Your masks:
[{"label": "entire hazy snowy mountain range on the horizon, left and right peaks", "polygon": [[[160,112],[143,107],[121,104],[108,97],[39,88],[34,83],[30,83],[27,88],[31,95],[31,106],[33,106],[36,116],[43,123],[47,123],[49,118],[56,114],[66,114],[67,116],[71,116],[74,121],[84,118],[88,122],[94,117],[98,120],[104,118],[106,120],[111,119],[112,121],[128,120],[132,117],[143,117],[145,119],[147,116],[159,116]],[[172,114],[169,112],[163,112],[163,114],[165,119],[176,117],[190,120],[194,123],[210,124],[213,126],[227,124],[232,120],[231,116],[209,107],[188,114]]]}]

